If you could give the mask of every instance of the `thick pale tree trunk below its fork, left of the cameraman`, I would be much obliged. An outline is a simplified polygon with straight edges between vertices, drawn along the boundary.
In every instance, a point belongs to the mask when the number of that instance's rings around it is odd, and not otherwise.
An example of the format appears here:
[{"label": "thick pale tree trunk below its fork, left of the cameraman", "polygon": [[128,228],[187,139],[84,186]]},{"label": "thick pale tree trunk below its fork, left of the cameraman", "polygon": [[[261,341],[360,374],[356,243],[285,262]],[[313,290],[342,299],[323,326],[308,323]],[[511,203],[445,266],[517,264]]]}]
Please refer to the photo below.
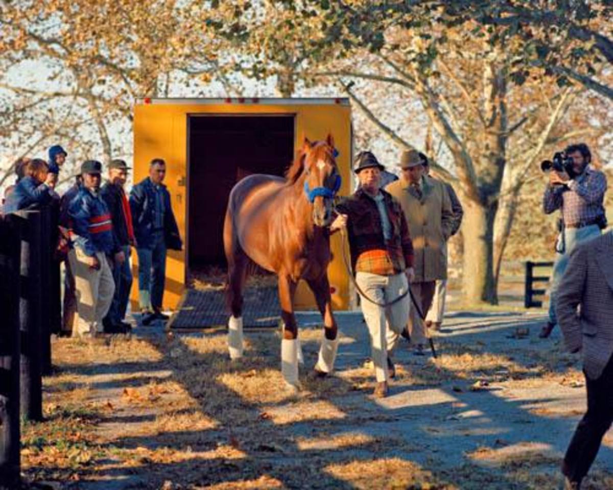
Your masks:
[{"label": "thick pale tree trunk below its fork, left of the cameraman", "polygon": [[493,227],[497,206],[465,201],[462,290],[470,303],[498,304],[493,274]]}]

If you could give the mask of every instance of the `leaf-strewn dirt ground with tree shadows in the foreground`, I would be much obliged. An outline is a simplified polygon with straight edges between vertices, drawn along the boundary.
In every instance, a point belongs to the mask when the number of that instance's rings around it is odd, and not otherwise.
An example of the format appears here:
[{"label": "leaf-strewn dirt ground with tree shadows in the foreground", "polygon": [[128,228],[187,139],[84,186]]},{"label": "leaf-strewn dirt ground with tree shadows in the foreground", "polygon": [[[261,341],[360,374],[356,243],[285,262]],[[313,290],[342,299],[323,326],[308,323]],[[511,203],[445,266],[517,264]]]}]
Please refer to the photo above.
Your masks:
[{"label": "leaf-strewn dirt ground with tree shadows in the foreground", "polygon": [[[306,374],[321,331],[299,320]],[[278,388],[275,332],[248,333],[238,363],[223,333],[57,341],[49,420],[24,429],[26,477],[88,490],[557,488],[585,407],[559,333],[541,341],[532,315],[452,313],[438,360],[401,342],[391,396],[376,401],[361,315],[338,320],[337,375],[301,376],[299,396]],[[613,488],[611,448],[609,432],[585,488]]]}]

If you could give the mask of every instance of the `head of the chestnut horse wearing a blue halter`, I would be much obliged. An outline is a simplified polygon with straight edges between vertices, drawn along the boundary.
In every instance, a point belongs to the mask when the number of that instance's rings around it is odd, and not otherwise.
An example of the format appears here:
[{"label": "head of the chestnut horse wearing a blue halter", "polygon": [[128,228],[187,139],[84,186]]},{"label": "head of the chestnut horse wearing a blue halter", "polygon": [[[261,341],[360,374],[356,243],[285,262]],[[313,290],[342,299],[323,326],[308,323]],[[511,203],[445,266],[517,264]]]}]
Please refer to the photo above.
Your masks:
[{"label": "head of the chestnut horse wearing a blue halter", "polygon": [[304,192],[313,204],[313,223],[326,227],[332,222],[332,202],[341,186],[332,135],[329,134],[326,141],[313,143],[305,138],[301,151]]}]

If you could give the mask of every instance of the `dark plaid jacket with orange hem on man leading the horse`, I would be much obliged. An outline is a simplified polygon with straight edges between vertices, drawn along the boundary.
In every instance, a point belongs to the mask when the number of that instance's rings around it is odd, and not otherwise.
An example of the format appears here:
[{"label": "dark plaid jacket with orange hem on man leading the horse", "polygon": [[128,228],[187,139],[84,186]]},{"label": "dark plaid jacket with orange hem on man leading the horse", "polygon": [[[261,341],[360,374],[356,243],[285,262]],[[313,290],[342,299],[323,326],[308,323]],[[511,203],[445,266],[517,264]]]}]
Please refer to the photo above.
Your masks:
[{"label": "dark plaid jacket with orange hem on man leading the horse", "polygon": [[413,266],[413,243],[400,203],[385,190],[383,194],[391,225],[391,238],[383,237],[381,215],[375,201],[362,189],[337,205],[337,213],[348,215],[349,247],[355,272],[381,276],[402,273]]}]

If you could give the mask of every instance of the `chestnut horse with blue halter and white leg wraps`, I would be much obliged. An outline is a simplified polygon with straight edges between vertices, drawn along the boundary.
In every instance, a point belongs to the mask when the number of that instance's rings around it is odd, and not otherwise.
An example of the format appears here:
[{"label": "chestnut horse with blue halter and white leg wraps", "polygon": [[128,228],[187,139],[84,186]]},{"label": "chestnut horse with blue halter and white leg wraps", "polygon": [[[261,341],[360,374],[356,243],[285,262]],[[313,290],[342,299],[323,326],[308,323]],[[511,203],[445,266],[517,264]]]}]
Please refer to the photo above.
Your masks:
[{"label": "chestnut horse with blue halter and white leg wraps", "polygon": [[315,371],[333,369],[337,323],[332,315],[327,267],[330,262],[332,200],[340,187],[332,135],[326,141],[305,139],[286,178],[249,175],[230,192],[224,223],[228,264],[227,303],[230,357],[243,353],[243,287],[249,265],[256,263],[278,276],[281,319],[281,372],[298,386],[298,328],[294,293],[300,279],[313,291],[324,318],[324,338]]}]

